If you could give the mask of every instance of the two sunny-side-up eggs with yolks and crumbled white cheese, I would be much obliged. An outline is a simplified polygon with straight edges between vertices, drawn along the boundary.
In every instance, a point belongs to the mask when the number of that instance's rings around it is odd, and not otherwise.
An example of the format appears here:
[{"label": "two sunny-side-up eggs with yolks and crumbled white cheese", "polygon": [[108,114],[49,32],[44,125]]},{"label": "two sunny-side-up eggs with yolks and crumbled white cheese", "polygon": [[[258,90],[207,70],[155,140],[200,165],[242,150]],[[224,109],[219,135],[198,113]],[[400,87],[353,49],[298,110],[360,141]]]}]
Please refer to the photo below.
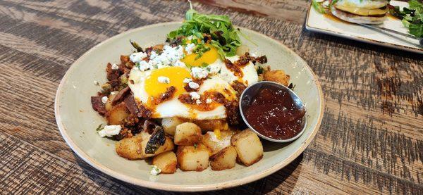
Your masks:
[{"label": "two sunny-side-up eggs with yolks and crumbled white cheese", "polygon": [[[219,92],[226,100],[236,99],[236,92],[231,87],[233,81],[245,85],[258,81],[255,66],[249,62],[240,68],[241,74],[236,74],[221,60],[216,49],[212,46],[198,58],[197,54],[187,54],[182,46],[164,46],[161,54],[152,54],[148,62],[142,60],[147,54],[134,53],[131,61],[137,66],[130,71],[128,83],[134,98],[152,111],[152,118],[187,118],[191,120],[212,120],[226,118],[226,108],[223,104],[211,99],[199,99],[198,96]],[[180,52],[183,52],[181,54]],[[153,58],[151,58],[153,57]],[[159,60],[157,60],[159,58]],[[239,56],[227,58],[231,62],[237,61]],[[204,66],[207,63],[207,66]],[[147,65],[148,67],[143,67]],[[195,94],[186,92],[185,85],[190,80],[202,78],[203,82]],[[173,96],[163,102],[154,103],[155,99],[163,95],[169,87],[175,87]],[[207,103],[207,110],[201,106],[183,103],[178,99],[180,94],[190,94],[197,103]],[[198,102],[202,101],[202,102]],[[207,101],[207,102],[205,102]]]}]

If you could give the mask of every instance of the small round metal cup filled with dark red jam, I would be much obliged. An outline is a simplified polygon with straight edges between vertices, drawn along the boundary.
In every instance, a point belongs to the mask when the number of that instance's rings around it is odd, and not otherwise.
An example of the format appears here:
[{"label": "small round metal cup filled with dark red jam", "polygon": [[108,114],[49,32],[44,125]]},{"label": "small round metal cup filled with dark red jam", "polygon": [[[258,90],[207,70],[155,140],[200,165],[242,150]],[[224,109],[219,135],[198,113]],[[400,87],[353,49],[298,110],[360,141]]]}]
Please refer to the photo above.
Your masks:
[{"label": "small round metal cup filled with dark red jam", "polygon": [[240,96],[240,114],[259,137],[274,142],[298,139],[307,127],[300,97],[276,82],[262,81],[247,87]]}]

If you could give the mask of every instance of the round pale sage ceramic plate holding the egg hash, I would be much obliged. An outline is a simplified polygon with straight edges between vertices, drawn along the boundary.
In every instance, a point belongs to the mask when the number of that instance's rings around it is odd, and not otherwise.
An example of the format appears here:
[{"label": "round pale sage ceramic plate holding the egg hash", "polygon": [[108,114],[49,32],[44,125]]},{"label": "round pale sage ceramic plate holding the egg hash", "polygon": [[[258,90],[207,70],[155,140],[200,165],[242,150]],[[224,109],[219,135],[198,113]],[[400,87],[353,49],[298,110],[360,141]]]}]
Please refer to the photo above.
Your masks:
[{"label": "round pale sage ceramic plate holding the egg hash", "polygon": [[280,42],[242,28],[258,44],[254,46],[243,39],[243,43],[250,46],[251,53],[265,54],[271,68],[283,69],[291,75],[295,92],[306,104],[307,128],[299,139],[289,144],[263,141],[264,157],[250,167],[237,164],[230,170],[178,170],[173,175],[153,176],[149,174],[151,165],[146,161],[128,161],[119,157],[114,149],[115,141],[99,137],[95,129],[105,121],[92,110],[90,96],[99,91],[94,80],[106,82],[106,63],[117,63],[121,54],[132,53],[130,39],[142,47],[162,44],[166,34],[180,24],[161,23],[118,34],[94,46],[73,63],[61,80],[55,100],[57,125],[71,149],[107,175],[142,187],[170,191],[206,191],[239,186],[266,177],[297,158],[317,133],[323,116],[324,99],[317,77],[302,58]]}]

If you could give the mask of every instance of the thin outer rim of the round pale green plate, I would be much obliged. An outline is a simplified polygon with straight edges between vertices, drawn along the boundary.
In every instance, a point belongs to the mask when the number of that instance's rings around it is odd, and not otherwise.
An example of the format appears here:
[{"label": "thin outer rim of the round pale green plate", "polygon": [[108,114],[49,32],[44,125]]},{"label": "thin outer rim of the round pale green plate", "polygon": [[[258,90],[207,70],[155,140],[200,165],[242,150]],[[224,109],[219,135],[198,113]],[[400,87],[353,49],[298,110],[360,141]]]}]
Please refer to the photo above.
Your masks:
[{"label": "thin outer rim of the round pale green plate", "polygon": [[166,190],[166,191],[210,191],[210,190],[217,190],[217,189],[226,189],[226,188],[231,188],[231,187],[238,187],[240,185],[243,184],[247,184],[250,182],[254,182],[256,180],[262,179],[263,177],[266,177],[268,175],[271,175],[272,173],[280,170],[281,168],[285,167],[286,165],[288,165],[289,163],[291,163],[293,160],[295,160],[295,158],[297,158],[298,156],[300,156],[300,154],[302,153],[302,151],[304,151],[307,146],[310,144],[310,142],[312,141],[312,139],[316,136],[317,131],[319,130],[319,127],[321,125],[321,120],[323,118],[324,115],[324,96],[323,96],[323,92],[321,91],[321,86],[320,86],[320,82],[317,78],[317,76],[313,73],[312,69],[309,67],[309,65],[307,65],[307,63],[300,58],[300,56],[298,56],[297,54],[295,54],[295,52],[293,52],[292,50],[290,50],[287,46],[283,45],[281,42],[277,41],[276,39],[272,39],[271,37],[267,37],[265,34],[259,33],[259,32],[255,32],[253,30],[248,30],[245,29],[243,27],[240,27],[240,29],[254,33],[259,35],[260,37],[264,38],[264,39],[268,39],[271,42],[277,42],[280,46],[282,46],[284,49],[286,49],[286,51],[289,51],[289,53],[293,56],[296,56],[300,59],[300,61],[302,61],[305,64],[305,67],[307,68],[307,70],[309,70],[310,73],[312,73],[313,77],[314,77],[314,83],[316,83],[317,85],[317,89],[319,92],[319,98],[320,98],[320,105],[319,105],[319,117],[317,120],[317,124],[316,126],[314,126],[314,129],[312,130],[312,133],[309,135],[308,139],[306,139],[304,141],[304,143],[302,143],[302,146],[300,146],[300,148],[298,148],[294,153],[292,153],[290,156],[288,156],[288,158],[285,159],[285,161],[281,161],[280,163],[274,165],[272,168],[269,168],[267,170],[264,170],[262,172],[258,172],[255,175],[250,175],[248,177],[243,177],[240,178],[238,180],[230,180],[230,181],[226,181],[226,182],[220,182],[217,184],[200,184],[200,185],[176,185],[176,184],[163,184],[163,183],[157,183],[157,182],[150,182],[147,180],[140,180],[134,177],[129,177],[127,175],[123,175],[120,172],[111,170],[110,168],[106,168],[104,165],[102,165],[101,163],[95,161],[93,158],[91,158],[90,156],[87,155],[87,153],[85,153],[84,151],[82,151],[76,144],[75,142],[68,136],[67,132],[66,132],[66,128],[64,127],[62,120],[61,120],[61,115],[59,114],[59,96],[63,90],[63,85],[66,82],[66,80],[68,80],[68,75],[71,74],[71,72],[73,72],[75,65],[77,63],[80,63],[80,61],[85,60],[85,58],[87,58],[88,54],[91,53],[91,51],[93,51],[94,49],[97,49],[98,47],[102,46],[104,43],[106,42],[110,42],[111,40],[114,39],[120,39],[121,37],[125,36],[125,34],[129,34],[130,32],[135,32],[138,30],[142,30],[145,28],[150,28],[150,27],[157,27],[157,26],[162,26],[162,25],[174,25],[180,22],[169,22],[169,23],[157,23],[154,25],[146,25],[143,27],[138,27],[135,28],[133,30],[128,30],[126,32],[123,32],[121,34],[117,34],[114,37],[111,37],[109,39],[106,39],[104,42],[101,42],[99,44],[97,44],[96,46],[92,47],[92,49],[88,50],[87,52],[85,52],[85,54],[83,54],[82,56],[80,56],[80,58],[78,58],[78,60],[76,60],[73,65],[71,65],[71,68],[68,69],[68,71],[66,71],[66,74],[63,76],[59,87],[57,89],[56,92],[56,98],[54,101],[54,114],[56,115],[56,122],[57,125],[59,127],[59,131],[61,132],[61,135],[63,137],[63,139],[65,139],[66,143],[68,144],[68,146],[71,147],[71,149],[78,155],[80,156],[80,158],[82,158],[82,160],[84,160],[85,162],[87,162],[88,164],[90,164],[92,167],[96,168],[97,170],[104,172],[106,175],[110,175],[111,177],[115,177],[118,180],[122,180],[125,182],[128,182],[130,184],[135,184],[141,187],[147,187],[147,188],[151,188],[151,189],[159,189],[159,190]]}]

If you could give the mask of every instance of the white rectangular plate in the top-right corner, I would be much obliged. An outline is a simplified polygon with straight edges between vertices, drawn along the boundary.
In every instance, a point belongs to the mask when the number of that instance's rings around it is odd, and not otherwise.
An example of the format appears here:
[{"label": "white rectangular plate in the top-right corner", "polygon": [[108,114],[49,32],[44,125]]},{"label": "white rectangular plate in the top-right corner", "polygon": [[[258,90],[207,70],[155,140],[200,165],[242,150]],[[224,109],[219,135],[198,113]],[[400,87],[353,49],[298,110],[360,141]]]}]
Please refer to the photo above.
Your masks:
[{"label": "white rectangular plate in the top-right corner", "polygon": [[[393,6],[400,6],[401,9],[403,7],[408,7],[407,2],[402,1],[391,1],[390,4]],[[423,48],[418,46],[419,41],[415,39],[392,34],[390,32],[372,30],[353,23],[346,23],[332,15],[319,13],[312,6],[309,7],[309,11],[307,13],[305,27],[307,30],[314,32],[331,34],[333,36],[367,42],[369,44],[388,46],[395,49],[423,54]],[[406,34],[408,33],[407,28],[403,26],[401,20],[393,18],[391,15],[388,15],[381,27],[386,27]],[[398,37],[400,37],[400,39],[398,39]]]}]

